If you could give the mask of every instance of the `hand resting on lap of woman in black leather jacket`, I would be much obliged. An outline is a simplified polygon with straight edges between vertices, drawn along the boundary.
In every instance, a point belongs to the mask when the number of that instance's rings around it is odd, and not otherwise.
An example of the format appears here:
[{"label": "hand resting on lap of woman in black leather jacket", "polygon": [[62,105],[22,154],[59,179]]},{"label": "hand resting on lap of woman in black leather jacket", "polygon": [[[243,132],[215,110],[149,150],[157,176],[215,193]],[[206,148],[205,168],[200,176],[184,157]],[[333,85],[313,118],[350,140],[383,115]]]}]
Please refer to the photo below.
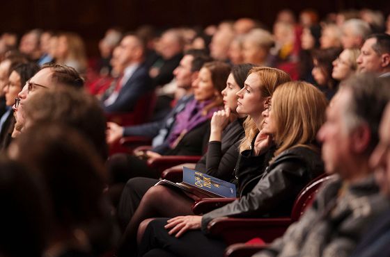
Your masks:
[{"label": "hand resting on lap of woman in black leather jacket", "polygon": [[175,237],[178,238],[180,235],[185,233],[185,231],[192,229],[201,229],[202,216],[188,215],[188,216],[178,216],[173,219],[168,220],[168,224],[164,227],[169,230],[169,235],[176,234]]}]

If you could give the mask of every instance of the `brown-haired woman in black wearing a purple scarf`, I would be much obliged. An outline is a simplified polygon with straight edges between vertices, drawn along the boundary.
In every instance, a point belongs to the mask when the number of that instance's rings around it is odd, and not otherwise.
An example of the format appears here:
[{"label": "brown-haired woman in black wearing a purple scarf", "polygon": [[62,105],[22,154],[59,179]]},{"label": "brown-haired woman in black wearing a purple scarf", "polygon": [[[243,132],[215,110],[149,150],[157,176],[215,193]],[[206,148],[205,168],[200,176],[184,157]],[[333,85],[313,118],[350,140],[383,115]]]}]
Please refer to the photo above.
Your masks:
[{"label": "brown-haired woman in black wearing a purple scarf", "polygon": [[[170,135],[159,146],[160,154],[147,151],[146,158],[161,155],[200,156],[205,152],[210,135],[210,119],[215,111],[221,109],[221,90],[230,71],[231,68],[221,62],[203,65],[192,85],[194,100],[187,103],[185,109],[176,116]],[[159,177],[154,169],[148,167],[145,160],[126,154],[112,156],[107,162],[107,167],[112,179],[111,185],[125,183],[137,176],[154,179]]]}]

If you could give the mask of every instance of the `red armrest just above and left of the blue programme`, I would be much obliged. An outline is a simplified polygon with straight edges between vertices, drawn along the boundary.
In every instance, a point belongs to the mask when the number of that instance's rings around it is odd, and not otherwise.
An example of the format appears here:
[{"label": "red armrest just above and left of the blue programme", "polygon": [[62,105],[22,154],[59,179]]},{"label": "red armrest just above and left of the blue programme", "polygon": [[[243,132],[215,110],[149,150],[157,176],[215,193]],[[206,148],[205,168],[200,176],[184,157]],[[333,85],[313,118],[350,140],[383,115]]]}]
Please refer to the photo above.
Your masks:
[{"label": "red armrest just above and left of the blue programme", "polygon": [[181,163],[197,163],[201,157],[202,156],[161,156],[158,158],[150,158],[148,160],[148,165],[161,174],[164,169]]}]

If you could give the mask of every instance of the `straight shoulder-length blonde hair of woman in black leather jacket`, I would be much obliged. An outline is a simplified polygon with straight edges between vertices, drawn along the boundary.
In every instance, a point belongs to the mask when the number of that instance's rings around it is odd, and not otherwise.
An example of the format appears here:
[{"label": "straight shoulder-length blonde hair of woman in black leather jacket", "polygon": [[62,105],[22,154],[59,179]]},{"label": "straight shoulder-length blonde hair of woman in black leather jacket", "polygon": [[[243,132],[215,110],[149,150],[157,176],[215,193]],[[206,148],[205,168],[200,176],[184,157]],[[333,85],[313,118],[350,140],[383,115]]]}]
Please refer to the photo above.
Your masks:
[{"label": "straight shoulder-length blonde hair of woman in black leather jacket", "polygon": [[326,108],[325,95],[313,85],[302,81],[280,85],[272,96],[275,156],[291,147],[313,147]]}]

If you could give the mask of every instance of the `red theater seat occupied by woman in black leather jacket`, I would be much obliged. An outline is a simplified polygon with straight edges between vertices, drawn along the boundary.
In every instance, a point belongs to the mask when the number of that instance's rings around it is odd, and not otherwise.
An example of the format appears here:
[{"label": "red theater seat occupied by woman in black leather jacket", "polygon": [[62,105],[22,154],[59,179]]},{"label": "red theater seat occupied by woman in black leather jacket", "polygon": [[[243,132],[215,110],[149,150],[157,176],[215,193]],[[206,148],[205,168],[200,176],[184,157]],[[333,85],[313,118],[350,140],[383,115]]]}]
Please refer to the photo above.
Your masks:
[{"label": "red theater seat occupied by woman in black leather jacket", "polygon": [[[231,218],[220,217],[213,219],[209,224],[210,233],[218,235],[228,243],[246,242],[251,238],[262,238],[265,242],[272,242],[279,238],[286,231],[292,222],[296,222],[304,213],[304,210],[311,205],[315,194],[318,192],[320,185],[333,176],[320,176],[306,186],[295,199],[290,217],[277,218]],[[210,210],[210,206],[228,204],[233,199],[202,199],[194,204],[194,213],[203,213]],[[208,209],[203,206],[205,204]]]}]

